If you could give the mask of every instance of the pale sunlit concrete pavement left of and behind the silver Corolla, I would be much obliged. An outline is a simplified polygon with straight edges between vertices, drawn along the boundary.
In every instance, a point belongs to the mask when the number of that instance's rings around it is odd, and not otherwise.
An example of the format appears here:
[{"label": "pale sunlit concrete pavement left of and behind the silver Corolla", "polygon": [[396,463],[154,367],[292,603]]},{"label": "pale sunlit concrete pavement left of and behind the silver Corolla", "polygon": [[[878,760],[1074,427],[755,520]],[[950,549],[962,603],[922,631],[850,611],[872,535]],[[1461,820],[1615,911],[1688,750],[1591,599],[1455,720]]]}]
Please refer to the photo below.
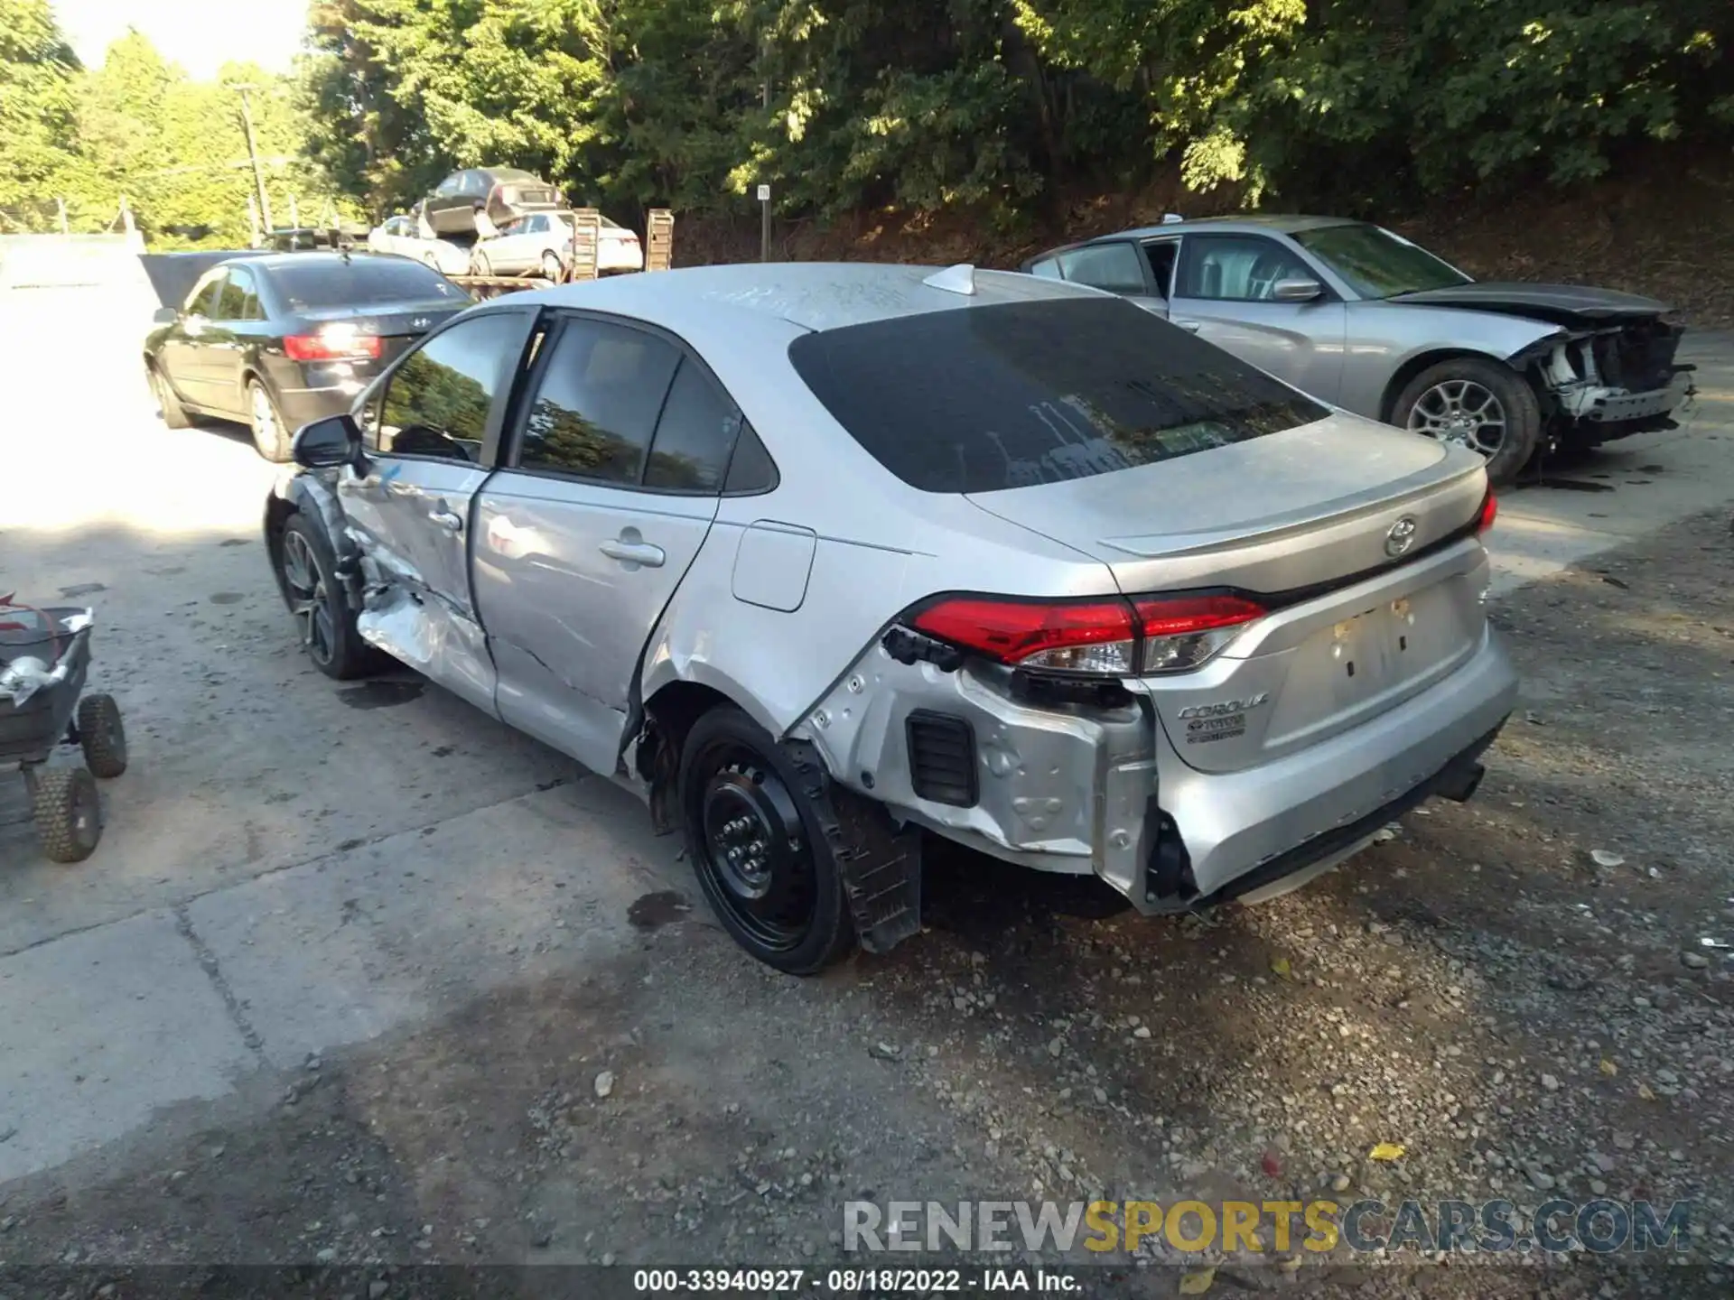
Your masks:
[{"label": "pale sunlit concrete pavement left of and behind the silver Corolla", "polygon": [[[0,1187],[529,974],[583,981],[643,943],[635,903],[690,889],[607,782],[407,674],[302,660],[258,539],[276,470],[241,430],[160,426],[146,314],[0,302],[0,591],[95,607],[132,742],[78,867],[40,860],[0,777]],[[1502,589],[1734,501],[1734,338],[1689,355],[1691,428],[1503,499]]]}]

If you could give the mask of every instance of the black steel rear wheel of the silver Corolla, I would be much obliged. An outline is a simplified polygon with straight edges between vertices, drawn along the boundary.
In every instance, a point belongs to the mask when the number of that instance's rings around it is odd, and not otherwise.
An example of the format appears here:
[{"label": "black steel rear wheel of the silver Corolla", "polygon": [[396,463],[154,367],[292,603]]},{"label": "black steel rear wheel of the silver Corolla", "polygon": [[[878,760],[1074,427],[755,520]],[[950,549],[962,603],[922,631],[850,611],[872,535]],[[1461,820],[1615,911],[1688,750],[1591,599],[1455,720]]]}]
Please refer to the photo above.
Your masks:
[{"label": "black steel rear wheel of the silver Corolla", "polygon": [[735,943],[789,974],[855,946],[843,874],[777,742],[739,709],[702,714],[680,757],[680,808],[699,887]]}]

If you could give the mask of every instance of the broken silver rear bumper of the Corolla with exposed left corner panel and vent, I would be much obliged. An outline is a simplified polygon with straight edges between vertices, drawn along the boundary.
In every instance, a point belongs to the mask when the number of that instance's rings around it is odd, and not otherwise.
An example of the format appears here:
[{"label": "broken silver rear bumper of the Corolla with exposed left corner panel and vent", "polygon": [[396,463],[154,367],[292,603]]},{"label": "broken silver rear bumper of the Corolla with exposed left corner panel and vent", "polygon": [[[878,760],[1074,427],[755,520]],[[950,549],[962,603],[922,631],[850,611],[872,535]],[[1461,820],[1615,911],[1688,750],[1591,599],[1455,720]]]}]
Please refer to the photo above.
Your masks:
[{"label": "broken silver rear bumper of the Corolla with exposed left corner panel and vent", "polygon": [[1432,797],[1469,797],[1517,697],[1491,629],[1444,679],[1242,771],[1190,766],[1124,688],[1056,700],[1018,674],[874,645],[801,728],[832,780],[1004,861],[1094,874],[1146,915],[1314,872]]}]

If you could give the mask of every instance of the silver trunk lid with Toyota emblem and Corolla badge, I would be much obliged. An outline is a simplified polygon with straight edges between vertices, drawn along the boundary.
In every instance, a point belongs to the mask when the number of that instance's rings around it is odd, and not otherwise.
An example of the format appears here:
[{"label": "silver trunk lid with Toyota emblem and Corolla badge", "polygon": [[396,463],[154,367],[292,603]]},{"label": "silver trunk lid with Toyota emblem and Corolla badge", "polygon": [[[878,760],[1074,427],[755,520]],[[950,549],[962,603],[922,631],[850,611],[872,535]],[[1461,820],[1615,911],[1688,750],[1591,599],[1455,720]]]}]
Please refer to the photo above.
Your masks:
[{"label": "silver trunk lid with Toyota emblem and Corolla badge", "polygon": [[1356,416],[1170,461],[983,492],[1127,595],[1231,588],[1271,612],[1191,673],[1144,679],[1181,757],[1236,771],[1425,690],[1479,647],[1481,459]]}]

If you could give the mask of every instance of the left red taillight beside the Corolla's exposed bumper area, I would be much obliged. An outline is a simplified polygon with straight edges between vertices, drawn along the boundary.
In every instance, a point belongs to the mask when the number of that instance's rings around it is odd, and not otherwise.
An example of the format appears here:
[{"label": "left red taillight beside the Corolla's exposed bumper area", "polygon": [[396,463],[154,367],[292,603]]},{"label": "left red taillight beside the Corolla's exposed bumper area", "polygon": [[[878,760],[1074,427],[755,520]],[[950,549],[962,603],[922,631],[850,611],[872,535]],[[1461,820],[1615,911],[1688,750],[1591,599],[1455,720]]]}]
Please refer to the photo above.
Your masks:
[{"label": "left red taillight beside the Corolla's exposed bumper area", "polygon": [[910,626],[1001,664],[1136,676],[1198,667],[1262,615],[1259,605],[1240,596],[948,596],[916,614]]}]

